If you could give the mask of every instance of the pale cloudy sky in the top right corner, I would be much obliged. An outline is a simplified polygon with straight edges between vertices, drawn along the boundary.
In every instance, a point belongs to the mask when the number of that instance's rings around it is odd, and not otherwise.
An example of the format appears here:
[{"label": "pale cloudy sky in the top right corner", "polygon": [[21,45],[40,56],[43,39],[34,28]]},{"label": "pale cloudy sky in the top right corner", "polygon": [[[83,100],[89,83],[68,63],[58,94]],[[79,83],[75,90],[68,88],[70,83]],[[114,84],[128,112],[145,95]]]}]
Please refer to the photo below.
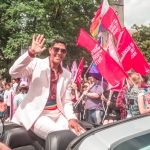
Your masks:
[{"label": "pale cloudy sky in the top right corner", "polygon": [[131,28],[150,24],[150,0],[124,0],[124,25]]}]

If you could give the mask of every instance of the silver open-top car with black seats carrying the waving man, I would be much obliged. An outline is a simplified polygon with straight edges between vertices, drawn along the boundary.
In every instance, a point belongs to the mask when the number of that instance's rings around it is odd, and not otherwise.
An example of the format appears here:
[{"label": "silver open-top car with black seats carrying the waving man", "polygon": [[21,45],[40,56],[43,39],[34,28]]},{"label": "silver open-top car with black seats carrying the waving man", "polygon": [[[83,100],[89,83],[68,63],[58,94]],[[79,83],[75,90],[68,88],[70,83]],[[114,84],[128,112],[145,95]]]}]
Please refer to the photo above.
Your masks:
[{"label": "silver open-top car with black seats carrying the waving man", "polygon": [[51,132],[46,141],[14,123],[4,124],[1,142],[21,150],[149,150],[150,115],[120,120],[107,125],[81,121],[87,132],[76,136],[69,130]]}]

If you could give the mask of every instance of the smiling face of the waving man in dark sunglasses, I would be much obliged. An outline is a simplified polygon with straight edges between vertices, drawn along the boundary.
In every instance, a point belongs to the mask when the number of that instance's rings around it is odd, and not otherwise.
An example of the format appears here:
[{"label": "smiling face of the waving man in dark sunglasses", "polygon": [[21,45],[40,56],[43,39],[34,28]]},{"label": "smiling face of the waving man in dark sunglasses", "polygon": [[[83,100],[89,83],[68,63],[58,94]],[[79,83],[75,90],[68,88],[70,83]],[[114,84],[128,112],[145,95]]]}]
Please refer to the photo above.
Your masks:
[{"label": "smiling face of the waving man in dark sunglasses", "polygon": [[53,47],[49,48],[49,53],[51,62],[60,64],[67,54],[66,46],[62,43],[55,43]]}]

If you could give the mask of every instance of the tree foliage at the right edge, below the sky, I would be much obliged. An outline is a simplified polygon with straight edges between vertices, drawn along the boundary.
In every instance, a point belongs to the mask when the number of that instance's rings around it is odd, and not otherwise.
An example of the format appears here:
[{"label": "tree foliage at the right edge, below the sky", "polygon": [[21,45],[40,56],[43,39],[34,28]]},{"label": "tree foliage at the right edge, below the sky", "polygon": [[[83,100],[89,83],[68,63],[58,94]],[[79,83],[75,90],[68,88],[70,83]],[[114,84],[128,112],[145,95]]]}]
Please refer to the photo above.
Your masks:
[{"label": "tree foliage at the right edge, below the sky", "polygon": [[148,62],[150,62],[150,26],[137,26],[132,27],[136,32],[132,37],[136,42],[138,48],[141,50]]}]

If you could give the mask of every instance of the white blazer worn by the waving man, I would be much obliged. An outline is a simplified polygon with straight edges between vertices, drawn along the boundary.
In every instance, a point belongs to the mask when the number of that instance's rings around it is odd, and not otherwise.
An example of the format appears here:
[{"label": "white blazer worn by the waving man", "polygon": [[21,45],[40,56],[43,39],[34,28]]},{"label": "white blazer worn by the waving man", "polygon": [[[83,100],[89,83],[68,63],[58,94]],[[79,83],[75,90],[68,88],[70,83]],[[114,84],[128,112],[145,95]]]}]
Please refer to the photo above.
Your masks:
[{"label": "white blazer worn by the waving man", "polygon": [[[29,79],[29,91],[16,110],[12,122],[23,125],[27,130],[43,111],[50,92],[49,57],[31,58],[28,52],[20,56],[9,73],[12,77]],[[63,68],[59,75],[56,92],[57,107],[69,119],[76,119],[71,102],[71,73]]]}]

